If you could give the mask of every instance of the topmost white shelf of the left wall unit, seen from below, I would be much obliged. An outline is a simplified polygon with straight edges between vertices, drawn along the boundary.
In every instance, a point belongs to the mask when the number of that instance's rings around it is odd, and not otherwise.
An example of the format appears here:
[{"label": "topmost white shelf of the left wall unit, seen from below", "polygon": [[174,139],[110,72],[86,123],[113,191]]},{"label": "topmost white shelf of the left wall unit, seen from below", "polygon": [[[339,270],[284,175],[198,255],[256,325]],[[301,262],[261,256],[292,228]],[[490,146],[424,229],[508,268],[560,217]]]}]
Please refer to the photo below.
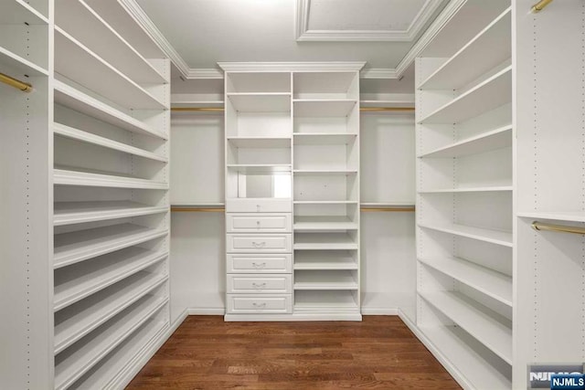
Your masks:
[{"label": "topmost white shelf of the left wall unit, seen from below", "polygon": [[84,1],[55,2],[55,24],[85,47],[138,83],[165,83],[165,78]]}]

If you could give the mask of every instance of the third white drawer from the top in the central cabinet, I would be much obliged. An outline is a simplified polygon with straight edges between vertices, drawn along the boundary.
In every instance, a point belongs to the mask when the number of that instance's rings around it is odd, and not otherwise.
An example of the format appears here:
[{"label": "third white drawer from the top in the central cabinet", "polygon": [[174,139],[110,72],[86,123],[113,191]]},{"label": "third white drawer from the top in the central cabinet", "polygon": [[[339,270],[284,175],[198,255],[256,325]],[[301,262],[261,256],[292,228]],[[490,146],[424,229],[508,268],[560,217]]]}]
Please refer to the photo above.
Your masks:
[{"label": "third white drawer from the top in the central cabinet", "polygon": [[229,234],[226,242],[228,252],[291,252],[293,237],[287,234],[252,235]]}]

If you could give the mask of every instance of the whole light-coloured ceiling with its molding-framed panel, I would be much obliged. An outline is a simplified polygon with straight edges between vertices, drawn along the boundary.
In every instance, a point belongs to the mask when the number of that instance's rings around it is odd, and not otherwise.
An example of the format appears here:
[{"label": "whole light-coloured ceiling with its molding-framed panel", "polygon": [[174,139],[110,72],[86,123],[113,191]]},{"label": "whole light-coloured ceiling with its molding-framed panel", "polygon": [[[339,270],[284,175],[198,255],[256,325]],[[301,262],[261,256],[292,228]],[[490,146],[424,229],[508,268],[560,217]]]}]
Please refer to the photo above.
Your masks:
[{"label": "whole light-coloured ceiling with its molding-framed panel", "polygon": [[[366,61],[399,66],[448,0],[134,0],[185,74],[217,62]],[[160,38],[159,38],[160,41]],[[183,61],[183,66],[177,62]],[[186,69],[185,69],[186,68]],[[382,72],[383,73],[383,72]],[[195,77],[194,77],[195,78]]]}]

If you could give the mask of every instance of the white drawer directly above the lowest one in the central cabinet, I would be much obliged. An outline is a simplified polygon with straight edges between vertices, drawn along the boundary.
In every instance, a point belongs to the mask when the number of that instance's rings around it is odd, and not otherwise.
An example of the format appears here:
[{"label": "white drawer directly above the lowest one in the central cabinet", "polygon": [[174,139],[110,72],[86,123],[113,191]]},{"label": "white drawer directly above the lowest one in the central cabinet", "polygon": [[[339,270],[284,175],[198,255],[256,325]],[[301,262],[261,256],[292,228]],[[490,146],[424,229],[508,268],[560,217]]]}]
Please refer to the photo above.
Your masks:
[{"label": "white drawer directly above the lowest one in the central cabinet", "polygon": [[291,275],[228,275],[229,294],[289,294]]}]

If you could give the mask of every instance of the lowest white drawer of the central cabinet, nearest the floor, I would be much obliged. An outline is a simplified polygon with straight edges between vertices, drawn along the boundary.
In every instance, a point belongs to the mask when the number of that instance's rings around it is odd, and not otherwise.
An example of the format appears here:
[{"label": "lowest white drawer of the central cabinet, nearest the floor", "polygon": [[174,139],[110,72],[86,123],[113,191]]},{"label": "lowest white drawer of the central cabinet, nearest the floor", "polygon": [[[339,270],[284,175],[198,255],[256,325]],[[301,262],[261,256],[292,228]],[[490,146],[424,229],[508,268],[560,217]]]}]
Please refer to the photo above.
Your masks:
[{"label": "lowest white drawer of the central cabinet, nearest the floor", "polygon": [[290,313],[293,312],[291,295],[233,295],[228,294],[228,314],[238,313]]}]

